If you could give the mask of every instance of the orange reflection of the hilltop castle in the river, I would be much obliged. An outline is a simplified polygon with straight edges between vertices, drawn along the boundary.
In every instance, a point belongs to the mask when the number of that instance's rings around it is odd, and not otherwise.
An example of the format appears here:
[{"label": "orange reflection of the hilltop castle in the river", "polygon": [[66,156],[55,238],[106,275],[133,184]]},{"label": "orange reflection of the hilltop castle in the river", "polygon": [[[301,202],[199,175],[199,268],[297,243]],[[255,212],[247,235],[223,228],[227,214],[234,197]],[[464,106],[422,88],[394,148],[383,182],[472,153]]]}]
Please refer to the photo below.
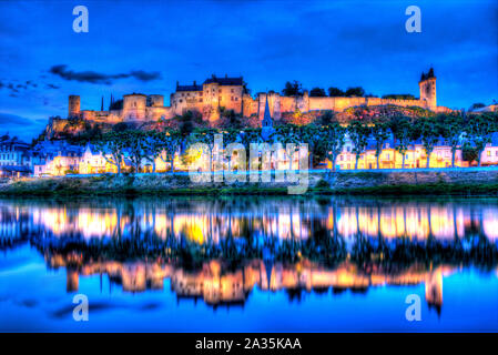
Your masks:
[{"label": "orange reflection of the hilltop castle in the river", "polygon": [[[57,262],[54,261],[57,260]],[[51,266],[65,266],[61,257],[49,260]],[[303,290],[306,292],[335,292],[345,290],[364,292],[383,285],[425,284],[425,297],[429,305],[440,310],[443,305],[443,280],[451,273],[449,266],[433,271],[411,266],[388,273],[382,270],[363,273],[348,262],[335,268],[325,268],[307,261],[297,264],[268,263],[253,260],[236,271],[224,271],[223,263],[211,261],[199,271],[185,271],[172,264],[144,262],[94,262],[83,264],[80,271],[68,268],[68,291],[77,292],[79,276],[108,274],[110,280],[122,284],[123,291],[143,292],[162,290],[163,280],[171,280],[171,288],[177,297],[199,297],[211,305],[244,303],[254,287],[262,291]]]}]

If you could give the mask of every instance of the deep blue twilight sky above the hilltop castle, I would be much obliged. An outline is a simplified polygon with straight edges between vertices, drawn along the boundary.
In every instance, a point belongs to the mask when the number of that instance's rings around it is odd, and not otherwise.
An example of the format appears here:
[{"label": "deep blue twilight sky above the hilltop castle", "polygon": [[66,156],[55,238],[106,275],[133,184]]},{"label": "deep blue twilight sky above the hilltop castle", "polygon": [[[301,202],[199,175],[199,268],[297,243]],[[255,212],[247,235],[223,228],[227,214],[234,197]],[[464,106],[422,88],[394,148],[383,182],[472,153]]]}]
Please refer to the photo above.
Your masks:
[{"label": "deep blue twilight sky above the hilltop castle", "polygon": [[[89,33],[72,9],[89,9]],[[405,9],[421,9],[407,33]],[[100,110],[111,93],[161,93],[176,80],[243,75],[252,93],[362,85],[418,97],[434,67],[438,104],[498,100],[498,2],[489,1],[6,1],[0,0],[0,134],[31,140],[68,95]]]}]

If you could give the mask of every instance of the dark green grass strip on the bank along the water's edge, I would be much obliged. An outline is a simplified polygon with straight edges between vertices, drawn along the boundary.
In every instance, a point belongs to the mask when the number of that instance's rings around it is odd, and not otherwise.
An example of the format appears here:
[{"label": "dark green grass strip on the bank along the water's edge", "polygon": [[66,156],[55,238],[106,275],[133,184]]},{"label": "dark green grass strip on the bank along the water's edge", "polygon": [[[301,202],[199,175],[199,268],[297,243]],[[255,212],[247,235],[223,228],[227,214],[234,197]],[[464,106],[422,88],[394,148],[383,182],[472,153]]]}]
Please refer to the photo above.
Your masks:
[{"label": "dark green grass strip on the bank along the water's edge", "polygon": [[[359,172],[358,174],[367,174]],[[365,178],[370,180],[372,173]],[[350,176],[350,175],[349,175]],[[355,176],[358,178],[358,176]],[[346,176],[341,176],[341,180]],[[387,185],[378,180],[377,185],[345,186],[334,189],[325,179],[318,180],[315,186],[309,186],[307,195],[481,195],[497,196],[498,182],[491,183],[446,183],[439,180],[426,184]],[[344,181],[347,183],[347,180]],[[375,182],[374,182],[375,183]],[[372,180],[370,180],[372,184]],[[0,185],[0,195],[6,196],[139,196],[139,195],[287,195],[287,187],[261,183],[190,185],[189,181],[171,179],[139,179],[132,175],[121,178],[88,178],[88,179],[47,179],[19,181]]]}]

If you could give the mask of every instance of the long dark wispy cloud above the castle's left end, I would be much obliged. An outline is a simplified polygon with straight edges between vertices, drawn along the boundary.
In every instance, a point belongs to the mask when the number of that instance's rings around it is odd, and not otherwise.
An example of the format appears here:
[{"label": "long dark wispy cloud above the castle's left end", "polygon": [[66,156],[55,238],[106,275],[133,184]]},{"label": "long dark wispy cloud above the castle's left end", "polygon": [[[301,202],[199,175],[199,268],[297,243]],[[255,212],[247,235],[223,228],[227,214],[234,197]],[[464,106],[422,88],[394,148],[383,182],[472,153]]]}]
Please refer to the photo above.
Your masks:
[{"label": "long dark wispy cloud above the castle's left end", "polygon": [[73,71],[68,69],[68,65],[59,64],[50,68],[50,73],[58,75],[64,80],[69,81],[80,81],[80,82],[89,82],[92,84],[111,84],[112,81],[118,79],[126,79],[134,78],[140,81],[152,81],[161,79],[161,74],[159,72],[146,72],[143,70],[133,70],[129,73],[119,73],[119,74],[104,74],[95,71]]}]

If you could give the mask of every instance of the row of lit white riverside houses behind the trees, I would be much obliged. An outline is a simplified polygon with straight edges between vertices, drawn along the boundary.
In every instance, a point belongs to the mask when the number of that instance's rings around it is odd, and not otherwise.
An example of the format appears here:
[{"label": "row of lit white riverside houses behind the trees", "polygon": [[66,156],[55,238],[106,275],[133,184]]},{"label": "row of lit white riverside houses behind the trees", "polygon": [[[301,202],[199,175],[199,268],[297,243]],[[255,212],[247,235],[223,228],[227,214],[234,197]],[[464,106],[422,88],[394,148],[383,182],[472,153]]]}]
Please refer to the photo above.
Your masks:
[{"label": "row of lit white riverside houses behind the trees", "polygon": [[[40,141],[34,146],[10,138],[0,136],[0,176],[21,178],[21,176],[63,176],[68,174],[99,174],[115,173],[116,166],[112,164],[109,155],[103,154],[92,144],[85,146],[72,145],[65,141]],[[455,166],[467,168],[472,164],[466,161],[459,149],[455,154]],[[280,156],[280,155],[277,155]],[[281,159],[281,158],[278,158]],[[440,139],[430,154],[429,168],[450,168],[451,166],[451,146],[444,139]],[[170,171],[170,163],[164,156],[153,159],[156,172]],[[346,143],[343,152],[336,161],[336,169],[355,169],[356,156],[353,152],[353,143],[346,136]],[[389,138],[382,150],[378,159],[379,169],[402,169],[403,155],[396,150],[396,143]],[[272,164],[272,166],[282,166],[282,164]],[[414,142],[405,155],[405,169],[426,168],[427,154],[420,141]],[[325,162],[332,168],[331,162]],[[475,162],[474,162],[475,164]],[[491,135],[491,142],[487,144],[481,154],[482,166],[498,166],[498,133]],[[176,171],[185,171],[187,166],[182,162],[180,152],[174,159]],[[278,169],[278,168],[277,168]],[[370,138],[366,150],[359,155],[357,169],[377,169],[377,158],[375,156],[375,140]],[[130,160],[124,156],[122,171],[132,171]],[[151,172],[152,161],[143,159],[142,171]]]}]

